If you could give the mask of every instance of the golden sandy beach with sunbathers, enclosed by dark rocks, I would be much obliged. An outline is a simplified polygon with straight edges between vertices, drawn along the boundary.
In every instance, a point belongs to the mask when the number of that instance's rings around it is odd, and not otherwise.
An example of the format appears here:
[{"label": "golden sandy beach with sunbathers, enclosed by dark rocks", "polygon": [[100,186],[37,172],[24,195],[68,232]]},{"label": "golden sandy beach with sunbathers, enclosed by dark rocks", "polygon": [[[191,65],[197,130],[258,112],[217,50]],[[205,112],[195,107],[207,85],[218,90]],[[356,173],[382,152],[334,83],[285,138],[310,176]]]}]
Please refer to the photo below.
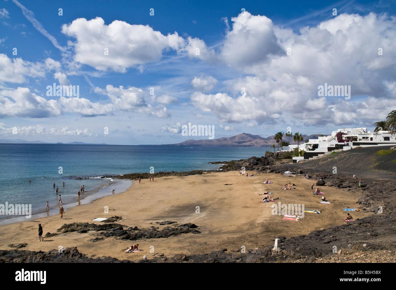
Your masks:
[{"label": "golden sandy beach with sunbathers, enclosed by dark rocks", "polygon": [[[249,175],[251,172],[248,172]],[[228,251],[263,248],[274,243],[279,236],[293,237],[306,235],[311,231],[345,224],[343,208],[356,208],[359,193],[321,186],[326,199],[331,204],[320,203],[321,195],[313,195],[310,190],[317,180],[307,180],[303,175],[286,177],[281,174],[254,173],[253,177],[239,175],[239,172],[216,172],[192,176],[166,176],[154,182],[137,180],[124,193],[97,199],[88,205],[80,205],[67,210],[64,219],[60,215],[49,216],[22,223],[0,227],[0,248],[11,249],[8,245],[27,243],[23,250],[48,251],[54,248],[76,246],[89,257],[111,256],[120,260],[137,261],[143,255],[150,259],[163,253],[203,254],[227,248]],[[265,179],[273,184],[261,184]],[[282,190],[284,184],[296,184],[296,189]],[[231,185],[225,185],[231,184]],[[315,186],[316,187],[316,186]],[[314,187],[314,188],[315,188]],[[299,222],[282,220],[282,216],[271,214],[271,205],[276,202],[261,203],[264,191],[273,191],[271,197],[279,197],[282,204],[304,204],[305,209],[320,210],[321,214],[305,212]],[[45,207],[45,205],[44,205]],[[109,213],[104,213],[104,208]],[[199,207],[199,212],[197,210]],[[352,216],[363,218],[369,212],[352,212]],[[41,223],[44,235],[56,233],[63,224],[73,222],[97,223],[95,218],[122,216],[119,224],[139,228],[157,227],[156,222],[165,220],[179,224],[194,223],[202,232],[187,233],[176,237],[128,241],[105,238],[89,242],[97,232],[67,233],[44,238],[38,242],[38,224]],[[158,226],[162,229],[166,226]],[[44,236],[43,235],[43,236]],[[131,254],[124,250],[134,243],[139,244],[142,252]],[[150,253],[154,246],[154,253]]]}]

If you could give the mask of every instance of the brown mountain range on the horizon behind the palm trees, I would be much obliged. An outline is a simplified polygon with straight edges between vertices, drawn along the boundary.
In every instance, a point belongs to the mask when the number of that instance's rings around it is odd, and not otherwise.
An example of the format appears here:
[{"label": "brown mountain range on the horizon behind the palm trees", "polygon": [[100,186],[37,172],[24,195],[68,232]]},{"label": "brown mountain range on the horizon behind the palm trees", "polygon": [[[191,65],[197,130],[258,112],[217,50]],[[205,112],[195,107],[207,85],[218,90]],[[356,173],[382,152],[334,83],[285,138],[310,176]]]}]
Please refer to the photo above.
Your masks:
[{"label": "brown mountain range on the horizon behind the palm trees", "polygon": [[[303,135],[304,141],[308,139],[316,139],[321,134],[313,134],[313,135]],[[284,136],[282,141],[289,141],[289,137]],[[301,142],[300,142],[301,143]],[[269,147],[272,144],[276,144],[274,140],[274,135],[269,136],[267,138],[261,137],[259,135],[251,135],[247,133],[242,133],[239,135],[235,135],[232,137],[223,137],[218,139],[201,139],[201,140],[187,140],[177,144],[169,144],[175,146],[253,146],[253,147]],[[290,137],[290,144],[297,144],[297,142],[293,141],[293,136]]]}]

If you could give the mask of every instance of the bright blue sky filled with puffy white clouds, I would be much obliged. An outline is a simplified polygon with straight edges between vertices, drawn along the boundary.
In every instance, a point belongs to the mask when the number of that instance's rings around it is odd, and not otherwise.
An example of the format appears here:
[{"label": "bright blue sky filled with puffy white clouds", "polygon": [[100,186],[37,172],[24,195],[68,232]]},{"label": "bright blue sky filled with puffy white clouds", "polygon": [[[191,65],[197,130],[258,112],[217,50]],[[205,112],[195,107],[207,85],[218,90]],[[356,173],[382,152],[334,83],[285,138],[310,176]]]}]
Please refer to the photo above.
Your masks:
[{"label": "bright blue sky filled with puffy white clouds", "polygon": [[[0,0],[0,139],[171,144],[193,138],[188,122],[215,138],[372,130],[396,109],[395,8]],[[78,99],[48,96],[53,83]],[[318,96],[324,83],[350,99]]]}]

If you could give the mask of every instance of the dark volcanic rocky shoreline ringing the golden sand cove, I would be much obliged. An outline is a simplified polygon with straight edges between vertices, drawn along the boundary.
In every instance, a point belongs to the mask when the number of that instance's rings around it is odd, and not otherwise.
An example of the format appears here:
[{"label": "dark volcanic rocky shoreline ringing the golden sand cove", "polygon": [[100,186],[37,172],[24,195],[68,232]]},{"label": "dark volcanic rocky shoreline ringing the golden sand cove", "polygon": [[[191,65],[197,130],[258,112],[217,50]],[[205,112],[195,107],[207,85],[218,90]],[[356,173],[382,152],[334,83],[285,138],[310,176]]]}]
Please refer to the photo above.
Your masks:
[{"label": "dark volcanic rocky shoreline ringing the golden sand cove", "polygon": [[[267,152],[270,153],[270,152]],[[331,174],[328,172],[317,172],[318,169],[304,168],[299,169],[298,163],[290,165],[274,165],[275,159],[279,156],[276,154],[266,154],[265,157],[251,157],[249,159],[241,159],[238,161],[221,162],[224,163],[223,171],[238,170],[241,166],[245,166],[246,170],[255,170],[259,167],[260,172],[265,173],[282,173],[288,169],[297,174],[310,173],[313,179],[322,180],[327,186],[335,186],[344,188],[348,191],[358,191],[360,196],[357,206],[360,210],[370,211],[373,214],[365,218],[358,218],[355,221],[347,222],[341,226],[330,227],[312,231],[308,235],[300,235],[297,237],[274,237],[280,239],[278,249],[273,250],[274,245],[268,245],[265,248],[257,248],[246,250],[241,253],[240,249],[219,249],[209,254],[185,255],[177,254],[173,257],[158,255],[148,260],[139,260],[145,263],[256,263],[256,262],[319,262],[328,260],[335,255],[352,255],[354,252],[359,253],[375,253],[377,251],[386,251],[391,259],[394,259],[396,250],[396,185],[393,180],[366,178],[362,187],[358,186],[358,178],[352,177],[352,174]],[[305,166],[306,167],[306,166]],[[192,171],[177,172],[179,176],[194,174],[204,174],[209,171]],[[218,172],[218,171],[215,171]],[[172,172],[173,173],[173,172]],[[157,173],[159,174],[159,173]],[[162,173],[163,174],[163,173]],[[126,174],[123,178],[135,179],[143,174]],[[148,174],[147,175],[152,175]],[[172,174],[174,175],[174,174]],[[116,177],[116,176],[113,176]],[[117,176],[118,177],[118,176]],[[158,176],[160,177],[160,176]],[[119,177],[118,177],[119,178]],[[323,183],[322,183],[323,184]],[[381,211],[379,211],[381,209]],[[114,231],[125,231],[121,225],[114,227],[109,224],[104,233]],[[102,225],[100,225],[102,226]],[[105,226],[105,225],[103,225]],[[187,228],[186,225],[181,225]],[[195,226],[195,225],[194,225]],[[177,226],[175,225],[175,228]],[[152,229],[155,229],[152,231]],[[152,227],[152,237],[161,231],[157,231]],[[134,230],[134,229],[131,229]],[[128,234],[129,229],[122,234]],[[147,229],[145,229],[147,231]],[[163,231],[163,230],[162,230]],[[129,231],[130,232],[130,231]],[[105,235],[105,234],[104,234]],[[117,234],[115,234],[117,236]],[[120,235],[122,236],[122,235]],[[133,239],[136,237],[133,236]],[[93,241],[94,242],[94,241]],[[334,246],[337,251],[334,253]],[[32,252],[26,250],[0,250],[0,262],[131,262],[129,260],[117,260],[111,257],[87,258],[84,254],[78,252],[76,248],[64,251],[59,254],[58,250],[48,252]],[[381,262],[381,261],[372,261]]]}]

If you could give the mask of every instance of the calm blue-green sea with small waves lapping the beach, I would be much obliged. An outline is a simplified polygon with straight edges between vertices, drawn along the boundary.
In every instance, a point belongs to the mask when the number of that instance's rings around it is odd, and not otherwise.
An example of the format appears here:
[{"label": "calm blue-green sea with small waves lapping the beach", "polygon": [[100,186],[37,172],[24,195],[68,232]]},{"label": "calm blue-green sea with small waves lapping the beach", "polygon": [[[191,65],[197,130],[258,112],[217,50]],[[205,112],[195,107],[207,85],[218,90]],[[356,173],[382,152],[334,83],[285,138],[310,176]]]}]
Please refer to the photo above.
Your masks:
[{"label": "calm blue-green sea with small waves lapping the beach", "polygon": [[[2,212],[1,207],[4,209],[6,203],[8,207],[31,205],[30,218],[40,218],[59,214],[59,195],[67,211],[111,195],[113,189],[115,194],[124,192],[132,184],[131,180],[103,176],[150,172],[150,169],[154,172],[219,170],[221,164],[209,162],[261,157],[266,151],[270,148],[0,143],[0,224],[27,220],[26,210],[23,215]],[[85,191],[77,199],[83,185]],[[46,210],[47,201],[49,210]]]}]

